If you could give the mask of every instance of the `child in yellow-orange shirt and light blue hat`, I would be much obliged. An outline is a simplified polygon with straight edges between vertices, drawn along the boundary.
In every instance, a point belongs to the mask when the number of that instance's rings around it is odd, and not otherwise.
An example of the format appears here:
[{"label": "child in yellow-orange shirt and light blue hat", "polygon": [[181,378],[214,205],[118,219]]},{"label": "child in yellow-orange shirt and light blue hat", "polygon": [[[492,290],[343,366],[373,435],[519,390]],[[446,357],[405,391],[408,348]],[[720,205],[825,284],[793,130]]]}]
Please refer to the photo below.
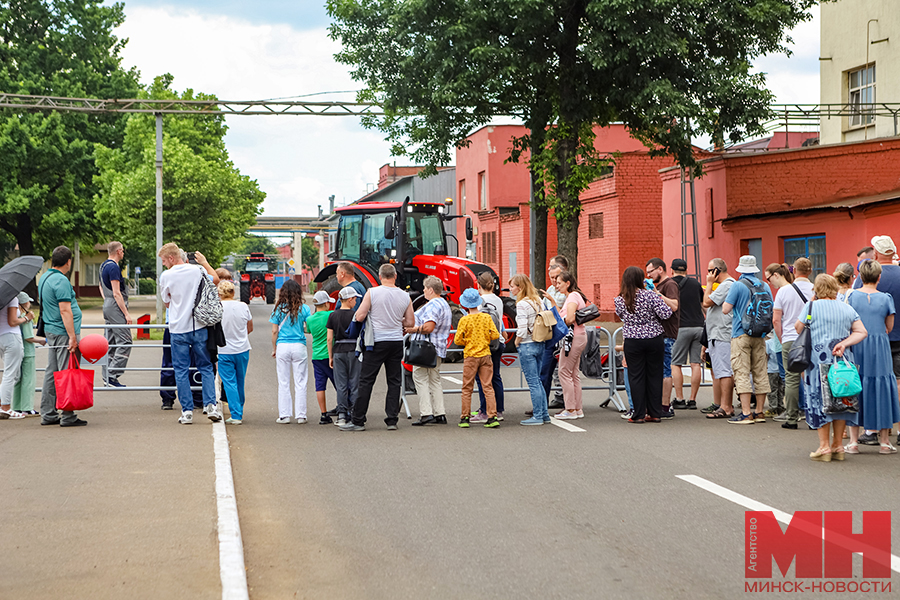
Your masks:
[{"label": "child in yellow-orange shirt and light blue hat", "polygon": [[463,387],[462,387],[462,416],[459,419],[460,427],[469,426],[469,418],[472,410],[472,389],[475,387],[475,376],[481,379],[484,396],[487,400],[488,420],[485,427],[497,427],[497,400],[494,397],[494,386],[491,379],[494,375],[494,365],[491,363],[491,341],[500,338],[500,332],[494,325],[494,320],[487,313],[479,312],[481,295],[475,288],[469,288],[459,297],[459,304],[469,311],[459,320],[456,326],[456,337],[453,342],[463,348]]}]

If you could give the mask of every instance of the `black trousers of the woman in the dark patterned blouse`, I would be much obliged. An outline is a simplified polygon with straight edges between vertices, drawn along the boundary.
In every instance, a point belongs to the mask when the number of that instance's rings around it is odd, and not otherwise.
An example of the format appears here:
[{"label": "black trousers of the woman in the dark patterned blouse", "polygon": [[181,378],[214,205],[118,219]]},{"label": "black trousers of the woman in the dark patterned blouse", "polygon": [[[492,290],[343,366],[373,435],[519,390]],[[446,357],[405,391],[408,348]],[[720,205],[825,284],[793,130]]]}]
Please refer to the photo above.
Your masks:
[{"label": "black trousers of the woman in the dark patterned blouse", "polygon": [[655,338],[625,338],[625,360],[628,362],[628,383],[634,403],[632,419],[662,416],[662,375],[665,342]]}]

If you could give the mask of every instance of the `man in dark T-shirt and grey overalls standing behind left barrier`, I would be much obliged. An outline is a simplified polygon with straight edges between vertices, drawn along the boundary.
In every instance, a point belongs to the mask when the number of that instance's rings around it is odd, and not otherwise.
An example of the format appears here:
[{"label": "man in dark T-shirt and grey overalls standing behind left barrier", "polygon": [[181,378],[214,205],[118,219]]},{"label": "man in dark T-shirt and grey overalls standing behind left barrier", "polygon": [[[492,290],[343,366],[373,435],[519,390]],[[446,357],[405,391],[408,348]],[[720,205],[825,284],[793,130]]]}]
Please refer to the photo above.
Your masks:
[{"label": "man in dark T-shirt and grey overalls standing behind left barrier", "polygon": [[[119,263],[125,258],[122,242],[110,242],[106,251],[109,258],[100,265],[100,296],[103,298],[103,321],[107,325],[131,325],[128,314],[128,290],[122,278]],[[107,354],[107,382],[114,387],[125,387],[119,383],[119,376],[124,373],[128,357],[131,355],[131,330],[113,328],[106,330],[109,342]]]}]

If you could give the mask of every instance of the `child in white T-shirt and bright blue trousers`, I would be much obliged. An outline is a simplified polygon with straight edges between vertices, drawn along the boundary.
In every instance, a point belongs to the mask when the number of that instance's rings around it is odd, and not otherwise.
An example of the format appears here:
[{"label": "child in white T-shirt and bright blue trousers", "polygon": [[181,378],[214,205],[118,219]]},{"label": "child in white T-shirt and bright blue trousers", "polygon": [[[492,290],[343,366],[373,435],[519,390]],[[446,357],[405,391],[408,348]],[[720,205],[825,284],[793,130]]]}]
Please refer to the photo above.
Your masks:
[{"label": "child in white T-shirt and bright blue trousers", "polygon": [[219,282],[219,297],[222,299],[222,330],[225,332],[225,347],[219,349],[219,378],[231,413],[231,418],[225,422],[240,425],[244,418],[244,379],[250,362],[248,334],[253,331],[253,316],[249,306],[235,302],[232,282]]}]

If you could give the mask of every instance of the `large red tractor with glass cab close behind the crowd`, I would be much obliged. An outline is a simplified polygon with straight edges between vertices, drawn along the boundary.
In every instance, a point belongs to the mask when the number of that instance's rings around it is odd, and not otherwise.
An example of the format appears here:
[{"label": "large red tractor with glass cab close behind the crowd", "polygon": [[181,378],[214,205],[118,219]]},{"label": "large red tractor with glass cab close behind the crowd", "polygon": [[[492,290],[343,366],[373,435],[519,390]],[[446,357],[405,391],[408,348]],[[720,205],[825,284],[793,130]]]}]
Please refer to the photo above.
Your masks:
[{"label": "large red tractor with glass cab close behind the crowd", "polygon": [[[340,289],[334,272],[338,262],[349,262],[356,270],[356,279],[365,288],[378,285],[378,268],[391,263],[397,268],[397,285],[409,291],[413,308],[425,302],[422,281],[434,275],[444,282],[445,298],[453,310],[453,328],[463,315],[459,295],[466,288],[477,288],[477,278],[485,271],[494,277],[494,287],[500,290],[497,274],[487,265],[447,254],[446,224],[463,218],[448,215],[443,202],[362,202],[335,209],[340,215],[335,247],[328,255],[329,262],[316,276],[324,283],[324,290],[337,297]],[[466,217],[466,238],[472,239],[472,222]],[[516,305],[512,298],[503,298],[504,323],[508,330],[515,328]],[[509,340],[512,336],[509,335]],[[509,341],[507,350],[515,352]],[[448,358],[459,359],[459,353]]]}]

